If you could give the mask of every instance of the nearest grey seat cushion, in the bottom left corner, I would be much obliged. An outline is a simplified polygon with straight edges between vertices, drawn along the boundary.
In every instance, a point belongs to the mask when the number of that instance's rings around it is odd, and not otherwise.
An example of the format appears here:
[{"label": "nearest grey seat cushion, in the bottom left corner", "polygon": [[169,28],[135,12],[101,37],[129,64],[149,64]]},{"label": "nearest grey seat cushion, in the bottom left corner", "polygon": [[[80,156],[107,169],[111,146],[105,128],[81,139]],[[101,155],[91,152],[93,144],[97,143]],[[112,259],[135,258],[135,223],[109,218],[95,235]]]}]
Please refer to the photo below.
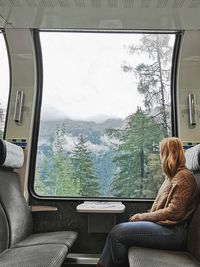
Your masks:
[{"label": "nearest grey seat cushion, in the bottom left corner", "polygon": [[59,267],[67,252],[60,244],[7,249],[0,254],[0,267]]}]

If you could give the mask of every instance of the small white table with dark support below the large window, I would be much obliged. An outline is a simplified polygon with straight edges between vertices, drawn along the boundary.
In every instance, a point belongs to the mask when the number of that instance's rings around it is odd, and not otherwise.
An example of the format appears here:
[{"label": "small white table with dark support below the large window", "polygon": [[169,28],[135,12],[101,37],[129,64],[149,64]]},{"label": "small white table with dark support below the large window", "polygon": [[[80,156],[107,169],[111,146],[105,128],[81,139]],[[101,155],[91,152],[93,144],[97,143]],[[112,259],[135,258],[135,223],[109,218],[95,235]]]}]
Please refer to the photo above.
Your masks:
[{"label": "small white table with dark support below the large window", "polygon": [[107,233],[116,224],[116,214],[125,210],[121,202],[85,201],[77,212],[88,213],[88,232]]}]

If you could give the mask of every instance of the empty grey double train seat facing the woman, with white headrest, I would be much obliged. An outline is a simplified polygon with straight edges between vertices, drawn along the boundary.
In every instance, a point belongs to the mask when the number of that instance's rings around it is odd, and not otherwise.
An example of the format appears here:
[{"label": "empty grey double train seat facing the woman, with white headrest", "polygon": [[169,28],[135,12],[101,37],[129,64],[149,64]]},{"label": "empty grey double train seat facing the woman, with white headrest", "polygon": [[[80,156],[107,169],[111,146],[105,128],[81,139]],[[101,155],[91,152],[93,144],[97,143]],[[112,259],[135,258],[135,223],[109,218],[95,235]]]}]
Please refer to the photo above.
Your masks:
[{"label": "empty grey double train seat facing the woman, with white headrest", "polygon": [[31,209],[14,171],[23,160],[20,147],[0,139],[0,267],[61,266],[77,233],[32,233]]}]

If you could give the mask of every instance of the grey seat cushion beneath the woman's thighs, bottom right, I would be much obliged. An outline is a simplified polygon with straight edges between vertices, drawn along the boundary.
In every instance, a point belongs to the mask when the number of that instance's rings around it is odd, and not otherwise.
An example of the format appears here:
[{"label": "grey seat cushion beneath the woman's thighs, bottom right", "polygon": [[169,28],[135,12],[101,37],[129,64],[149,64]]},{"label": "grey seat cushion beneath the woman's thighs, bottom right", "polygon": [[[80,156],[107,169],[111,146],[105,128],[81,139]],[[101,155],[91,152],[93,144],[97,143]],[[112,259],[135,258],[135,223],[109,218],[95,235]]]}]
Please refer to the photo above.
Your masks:
[{"label": "grey seat cushion beneath the woman's thighs, bottom right", "polygon": [[128,252],[130,267],[199,267],[189,253],[150,248],[131,247]]}]

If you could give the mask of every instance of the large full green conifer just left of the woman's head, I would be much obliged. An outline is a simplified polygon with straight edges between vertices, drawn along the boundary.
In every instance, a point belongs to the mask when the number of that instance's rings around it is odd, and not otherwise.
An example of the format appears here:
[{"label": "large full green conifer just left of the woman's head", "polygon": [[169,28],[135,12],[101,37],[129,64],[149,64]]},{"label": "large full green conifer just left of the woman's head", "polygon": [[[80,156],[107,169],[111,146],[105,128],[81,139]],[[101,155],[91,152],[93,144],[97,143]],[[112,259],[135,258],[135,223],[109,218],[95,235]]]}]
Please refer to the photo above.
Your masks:
[{"label": "large full green conifer just left of the woman's head", "polygon": [[[164,137],[163,128],[153,117],[138,108],[135,114],[127,118],[127,124],[123,130],[112,129],[111,132],[115,136],[121,135],[120,144],[116,149],[118,156],[114,158],[118,172],[111,184],[113,195],[145,196],[148,191],[147,184],[150,182],[149,153],[153,153],[155,148],[158,148],[159,141]],[[160,169],[160,163],[156,164]],[[154,189],[151,188],[151,190]]]}]

